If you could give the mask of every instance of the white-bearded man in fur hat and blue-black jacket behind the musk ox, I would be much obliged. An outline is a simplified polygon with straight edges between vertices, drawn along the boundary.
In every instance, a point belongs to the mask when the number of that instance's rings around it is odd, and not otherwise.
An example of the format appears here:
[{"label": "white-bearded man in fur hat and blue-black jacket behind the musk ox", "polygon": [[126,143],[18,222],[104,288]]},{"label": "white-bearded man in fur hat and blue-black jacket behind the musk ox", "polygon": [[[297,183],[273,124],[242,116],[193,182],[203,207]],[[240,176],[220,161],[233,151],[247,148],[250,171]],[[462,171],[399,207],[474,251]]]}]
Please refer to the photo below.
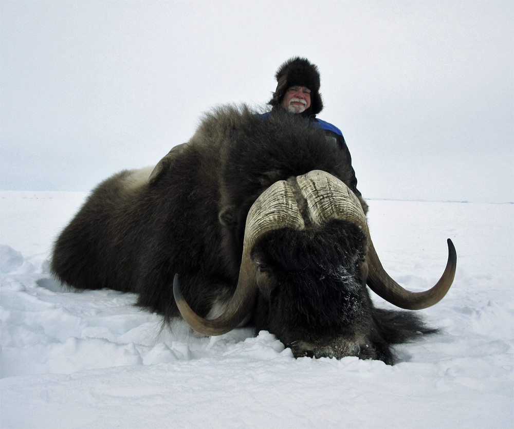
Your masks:
[{"label": "white-bearded man in fur hat and blue-black jacket behind the musk ox", "polygon": [[349,183],[350,189],[357,195],[357,179],[352,168],[352,157],[341,130],[331,123],[316,118],[316,115],[323,109],[320,89],[320,73],[315,64],[305,58],[291,58],[282,64],[277,73],[277,88],[273,97],[268,102],[272,106],[271,112],[264,116],[272,115],[274,110],[286,109],[293,115],[301,115],[306,120],[324,129],[327,143],[336,144],[344,153],[346,161],[350,166],[353,178]]}]

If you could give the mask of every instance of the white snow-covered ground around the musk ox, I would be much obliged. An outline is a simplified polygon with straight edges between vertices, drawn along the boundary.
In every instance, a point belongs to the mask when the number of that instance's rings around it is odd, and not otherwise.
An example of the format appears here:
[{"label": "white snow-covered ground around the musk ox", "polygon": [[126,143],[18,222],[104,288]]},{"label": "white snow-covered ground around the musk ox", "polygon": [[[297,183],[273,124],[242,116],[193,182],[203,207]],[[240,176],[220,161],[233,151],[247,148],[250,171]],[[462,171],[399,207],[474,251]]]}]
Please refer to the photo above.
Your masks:
[{"label": "white snow-covered ground around the musk ox", "polygon": [[0,194],[2,428],[514,426],[514,204],[369,201],[375,248],[406,288],[437,281],[446,238],[458,255],[447,296],[421,311],[443,333],[388,366],[294,359],[248,328],[198,339],[133,294],[61,289],[52,242],[86,196]]}]

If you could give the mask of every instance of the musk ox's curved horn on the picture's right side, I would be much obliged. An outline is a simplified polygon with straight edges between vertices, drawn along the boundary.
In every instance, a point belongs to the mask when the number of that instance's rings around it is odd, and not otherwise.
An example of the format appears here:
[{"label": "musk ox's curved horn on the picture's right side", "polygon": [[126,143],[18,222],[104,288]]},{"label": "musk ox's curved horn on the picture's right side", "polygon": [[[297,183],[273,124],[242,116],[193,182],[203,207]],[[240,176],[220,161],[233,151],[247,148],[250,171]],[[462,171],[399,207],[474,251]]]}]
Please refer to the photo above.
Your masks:
[{"label": "musk ox's curved horn on the picture's right side", "polygon": [[368,279],[371,290],[384,300],[407,310],[421,310],[430,307],[446,295],[455,276],[457,254],[448,239],[448,262],[439,281],[424,292],[411,292],[403,289],[383,269],[371,240],[368,222],[362,211],[359,199],[336,177],[320,170],[311,171],[297,177],[302,194],[307,200],[310,215],[320,224],[331,219],[343,219],[356,223],[368,237]]}]

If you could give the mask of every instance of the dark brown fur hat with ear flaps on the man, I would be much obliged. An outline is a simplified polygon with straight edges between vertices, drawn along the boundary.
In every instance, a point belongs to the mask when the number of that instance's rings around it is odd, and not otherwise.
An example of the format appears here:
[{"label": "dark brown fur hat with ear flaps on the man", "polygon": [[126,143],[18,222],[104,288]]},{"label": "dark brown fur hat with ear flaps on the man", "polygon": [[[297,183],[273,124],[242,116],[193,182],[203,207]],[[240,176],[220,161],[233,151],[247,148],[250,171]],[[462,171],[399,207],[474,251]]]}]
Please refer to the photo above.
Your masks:
[{"label": "dark brown fur hat with ear flaps on the man", "polygon": [[311,64],[306,58],[291,58],[282,64],[277,73],[277,89],[268,102],[274,106],[280,106],[288,88],[291,86],[306,86],[310,89],[310,107],[304,114],[317,115],[323,109],[320,90],[320,73],[316,64]]}]

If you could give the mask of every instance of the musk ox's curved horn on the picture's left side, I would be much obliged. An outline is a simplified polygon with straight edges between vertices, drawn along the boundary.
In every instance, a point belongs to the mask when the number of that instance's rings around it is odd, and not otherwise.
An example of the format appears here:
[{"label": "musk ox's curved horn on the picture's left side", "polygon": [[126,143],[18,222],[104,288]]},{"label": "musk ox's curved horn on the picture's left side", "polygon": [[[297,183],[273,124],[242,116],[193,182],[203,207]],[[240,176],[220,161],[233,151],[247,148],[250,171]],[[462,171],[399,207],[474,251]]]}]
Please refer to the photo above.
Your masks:
[{"label": "musk ox's curved horn on the picture's left side", "polygon": [[284,227],[304,229],[305,225],[289,183],[281,180],[263,192],[248,212],[237,287],[224,314],[214,320],[198,316],[182,296],[175,275],[175,302],[189,326],[204,335],[222,335],[237,327],[246,318],[254,305],[258,291],[250,251],[257,237],[267,231]]}]

